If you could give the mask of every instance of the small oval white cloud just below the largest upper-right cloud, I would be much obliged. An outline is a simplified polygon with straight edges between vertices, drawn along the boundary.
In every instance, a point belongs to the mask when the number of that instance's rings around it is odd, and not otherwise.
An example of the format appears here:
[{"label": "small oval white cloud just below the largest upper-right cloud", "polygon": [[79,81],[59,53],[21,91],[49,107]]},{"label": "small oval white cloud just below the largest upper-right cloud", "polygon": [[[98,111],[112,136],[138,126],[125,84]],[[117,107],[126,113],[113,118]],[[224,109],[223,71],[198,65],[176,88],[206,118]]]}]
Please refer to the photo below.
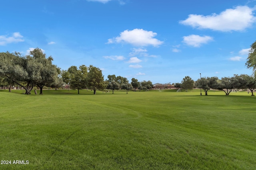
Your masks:
[{"label": "small oval white cloud just below the largest upper-right cloud", "polygon": [[188,35],[183,37],[183,42],[193,47],[200,47],[202,44],[206,44],[212,40],[213,38],[210,36]]}]

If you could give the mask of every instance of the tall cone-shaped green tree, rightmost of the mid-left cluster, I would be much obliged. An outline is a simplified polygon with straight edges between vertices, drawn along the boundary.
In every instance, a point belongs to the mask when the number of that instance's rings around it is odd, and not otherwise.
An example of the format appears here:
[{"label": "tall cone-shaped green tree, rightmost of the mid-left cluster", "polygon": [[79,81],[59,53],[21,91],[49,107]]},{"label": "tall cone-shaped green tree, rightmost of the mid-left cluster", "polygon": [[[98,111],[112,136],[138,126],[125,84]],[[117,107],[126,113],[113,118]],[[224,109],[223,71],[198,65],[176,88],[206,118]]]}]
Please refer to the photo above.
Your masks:
[{"label": "tall cone-shaped green tree, rightmost of the mid-left cluster", "polygon": [[102,70],[95,66],[90,65],[88,68],[89,72],[86,77],[87,86],[93,89],[93,94],[96,94],[96,90],[106,88],[104,83],[104,76],[102,76]]}]

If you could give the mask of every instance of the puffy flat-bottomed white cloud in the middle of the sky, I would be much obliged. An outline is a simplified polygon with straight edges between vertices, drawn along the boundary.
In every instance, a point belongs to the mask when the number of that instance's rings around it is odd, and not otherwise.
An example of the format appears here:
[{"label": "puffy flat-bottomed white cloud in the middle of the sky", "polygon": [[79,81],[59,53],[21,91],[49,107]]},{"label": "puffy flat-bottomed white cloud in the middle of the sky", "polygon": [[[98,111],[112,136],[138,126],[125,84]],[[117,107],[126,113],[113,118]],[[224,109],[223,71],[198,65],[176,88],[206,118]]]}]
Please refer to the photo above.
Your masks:
[{"label": "puffy flat-bottomed white cloud in the middle of the sky", "polygon": [[154,47],[158,47],[163,41],[153,38],[156,35],[157,33],[153,33],[153,31],[145,31],[137,28],[133,30],[127,29],[120,33],[119,37],[108,39],[108,43],[129,43],[135,46],[153,45]]}]

